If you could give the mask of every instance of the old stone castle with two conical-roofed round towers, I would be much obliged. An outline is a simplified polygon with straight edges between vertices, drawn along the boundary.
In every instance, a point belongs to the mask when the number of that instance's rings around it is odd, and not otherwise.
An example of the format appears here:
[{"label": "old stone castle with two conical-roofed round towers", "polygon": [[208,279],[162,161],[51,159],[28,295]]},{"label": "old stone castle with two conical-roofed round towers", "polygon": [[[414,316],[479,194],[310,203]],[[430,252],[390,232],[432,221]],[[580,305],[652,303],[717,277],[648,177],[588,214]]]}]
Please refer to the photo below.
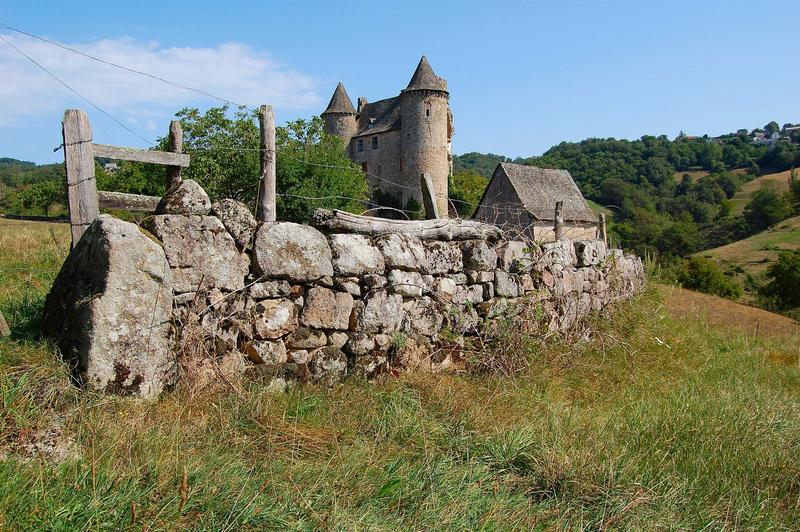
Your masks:
[{"label": "old stone castle with two conical-roofed round towers", "polygon": [[325,131],[344,139],[350,158],[361,164],[377,205],[416,210],[422,205],[420,175],[427,173],[438,211],[446,215],[453,164],[449,98],[447,81],[422,56],[398,96],[373,103],[359,98],[354,108],[340,82],[321,116]]}]

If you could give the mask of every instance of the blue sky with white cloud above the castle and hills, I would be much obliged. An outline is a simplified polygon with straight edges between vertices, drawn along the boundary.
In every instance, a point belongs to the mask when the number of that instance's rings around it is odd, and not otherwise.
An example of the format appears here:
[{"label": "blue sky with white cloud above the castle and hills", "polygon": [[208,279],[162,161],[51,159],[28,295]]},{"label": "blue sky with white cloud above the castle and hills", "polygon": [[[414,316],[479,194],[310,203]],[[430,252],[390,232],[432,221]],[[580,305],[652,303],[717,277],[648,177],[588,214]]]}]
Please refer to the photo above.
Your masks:
[{"label": "blue sky with white cloud above the castle and hills", "polygon": [[[800,122],[800,2],[44,2],[0,22],[232,101],[280,122],[404,88],[426,54],[448,80],[455,153],[538,155],[587,137],[720,134]],[[146,139],[179,108],[218,104],[0,28]],[[145,146],[0,41],[0,157],[60,160],[60,120]]]}]

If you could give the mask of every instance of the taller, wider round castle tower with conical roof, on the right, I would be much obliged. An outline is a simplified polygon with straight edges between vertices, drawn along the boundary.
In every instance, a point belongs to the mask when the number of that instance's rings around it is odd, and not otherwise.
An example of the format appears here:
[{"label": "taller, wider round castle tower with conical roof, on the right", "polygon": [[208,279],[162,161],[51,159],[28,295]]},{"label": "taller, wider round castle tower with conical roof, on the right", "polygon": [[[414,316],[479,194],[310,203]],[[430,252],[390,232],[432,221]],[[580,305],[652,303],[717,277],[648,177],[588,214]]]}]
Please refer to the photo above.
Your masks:
[{"label": "taller, wider round castle tower with conical roof, on the right", "polygon": [[[428,59],[422,56],[408,87],[400,93],[403,181],[419,190],[420,175],[430,174],[440,216],[447,216],[448,211],[452,132],[449,98],[447,81],[434,74]],[[408,195],[421,203],[421,191]]]}]

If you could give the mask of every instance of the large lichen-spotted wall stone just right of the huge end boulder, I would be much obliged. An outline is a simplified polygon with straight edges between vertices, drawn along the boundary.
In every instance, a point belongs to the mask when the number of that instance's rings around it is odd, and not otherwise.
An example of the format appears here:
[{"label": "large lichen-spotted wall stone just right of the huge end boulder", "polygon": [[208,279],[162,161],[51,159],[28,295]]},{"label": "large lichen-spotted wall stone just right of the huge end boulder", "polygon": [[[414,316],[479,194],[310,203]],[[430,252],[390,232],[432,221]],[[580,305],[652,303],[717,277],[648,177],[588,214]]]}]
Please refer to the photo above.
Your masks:
[{"label": "large lichen-spotted wall stone just right of the huge end boulder", "polygon": [[196,291],[201,282],[206,288],[244,288],[247,258],[218,218],[165,214],[154,216],[148,228],[164,246],[176,293]]}]

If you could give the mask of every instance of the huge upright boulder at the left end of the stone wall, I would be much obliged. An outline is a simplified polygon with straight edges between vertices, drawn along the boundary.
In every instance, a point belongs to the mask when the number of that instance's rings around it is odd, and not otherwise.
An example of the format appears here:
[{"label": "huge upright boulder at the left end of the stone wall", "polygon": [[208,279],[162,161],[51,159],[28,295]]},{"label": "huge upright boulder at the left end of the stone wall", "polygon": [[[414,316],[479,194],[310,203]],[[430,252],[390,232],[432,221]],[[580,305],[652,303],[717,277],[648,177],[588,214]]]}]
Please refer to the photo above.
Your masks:
[{"label": "huge upright boulder at the left end of the stone wall", "polygon": [[93,389],[152,398],[171,383],[170,267],[139,228],[100,215],[47,296],[43,331]]}]

